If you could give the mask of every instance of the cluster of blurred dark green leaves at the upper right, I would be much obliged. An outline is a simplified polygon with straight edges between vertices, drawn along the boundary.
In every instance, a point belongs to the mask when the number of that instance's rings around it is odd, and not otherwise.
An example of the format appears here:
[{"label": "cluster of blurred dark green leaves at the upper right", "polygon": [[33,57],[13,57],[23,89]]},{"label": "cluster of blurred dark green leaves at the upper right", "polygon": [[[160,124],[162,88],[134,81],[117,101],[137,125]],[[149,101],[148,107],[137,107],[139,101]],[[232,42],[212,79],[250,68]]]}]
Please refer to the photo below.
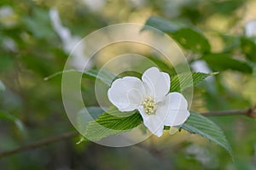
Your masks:
[{"label": "cluster of blurred dark green leaves at the upper right", "polygon": [[[225,46],[221,52],[212,53],[207,37],[197,27],[154,16],[150,17],[145,25],[165,32],[184,49],[193,52],[193,54],[199,54],[198,59],[205,60],[213,71],[233,70],[252,74],[256,69],[256,58],[254,56],[256,44],[253,38],[221,35],[221,38],[224,39]],[[144,30],[147,30],[147,27],[144,27]],[[230,46],[230,41],[232,41],[232,46]],[[246,60],[233,57],[231,52],[237,49],[241,54],[246,56]]]}]

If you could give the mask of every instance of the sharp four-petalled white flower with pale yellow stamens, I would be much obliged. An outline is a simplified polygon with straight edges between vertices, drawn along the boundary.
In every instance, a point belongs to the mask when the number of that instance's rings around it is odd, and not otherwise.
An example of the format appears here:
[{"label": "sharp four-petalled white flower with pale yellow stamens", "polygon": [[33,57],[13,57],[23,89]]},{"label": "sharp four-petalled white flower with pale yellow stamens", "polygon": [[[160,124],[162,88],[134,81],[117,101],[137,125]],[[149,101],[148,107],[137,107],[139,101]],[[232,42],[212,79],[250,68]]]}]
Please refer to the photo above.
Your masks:
[{"label": "sharp four-petalled white flower with pale yellow stamens", "polygon": [[142,79],[115,80],[108,89],[108,99],[119,111],[138,110],[144,125],[158,137],[165,125],[178,126],[188,119],[188,102],[182,94],[169,93],[171,81],[167,73],[152,67],[143,73]]}]

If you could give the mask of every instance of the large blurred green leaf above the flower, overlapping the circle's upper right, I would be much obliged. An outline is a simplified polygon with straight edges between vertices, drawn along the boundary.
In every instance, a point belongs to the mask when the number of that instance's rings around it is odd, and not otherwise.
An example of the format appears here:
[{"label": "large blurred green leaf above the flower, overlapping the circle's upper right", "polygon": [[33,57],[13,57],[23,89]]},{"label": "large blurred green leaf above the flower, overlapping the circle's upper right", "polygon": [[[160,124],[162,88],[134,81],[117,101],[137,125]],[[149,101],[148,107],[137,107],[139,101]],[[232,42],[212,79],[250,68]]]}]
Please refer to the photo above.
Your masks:
[{"label": "large blurred green leaf above the flower, overlapping the circle's upper right", "polygon": [[[164,20],[159,17],[150,17],[145,25],[166,32],[183,48],[199,53],[209,53],[211,51],[207,37],[193,26],[185,26],[180,22]],[[147,26],[143,30],[148,30]]]}]

